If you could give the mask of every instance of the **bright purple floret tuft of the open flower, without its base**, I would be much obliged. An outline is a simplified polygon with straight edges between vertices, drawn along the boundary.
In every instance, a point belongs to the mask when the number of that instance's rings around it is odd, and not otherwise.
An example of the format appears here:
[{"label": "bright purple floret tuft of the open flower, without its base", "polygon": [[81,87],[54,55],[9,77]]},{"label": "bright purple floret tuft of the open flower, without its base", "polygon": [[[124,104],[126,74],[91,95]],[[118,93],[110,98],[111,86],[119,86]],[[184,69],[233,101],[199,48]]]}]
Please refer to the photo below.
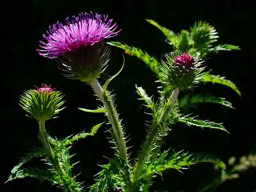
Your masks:
[{"label": "bright purple floret tuft of the open flower, without its base", "polygon": [[43,35],[46,42],[40,41],[42,50],[37,50],[41,56],[47,58],[58,58],[67,52],[76,51],[80,47],[94,45],[105,38],[118,35],[121,31],[115,31],[116,23],[112,26],[112,20],[108,15],[93,13],[80,13],[79,17],[73,16],[70,22],[68,17],[67,24],[57,22],[49,26],[47,35]]}]

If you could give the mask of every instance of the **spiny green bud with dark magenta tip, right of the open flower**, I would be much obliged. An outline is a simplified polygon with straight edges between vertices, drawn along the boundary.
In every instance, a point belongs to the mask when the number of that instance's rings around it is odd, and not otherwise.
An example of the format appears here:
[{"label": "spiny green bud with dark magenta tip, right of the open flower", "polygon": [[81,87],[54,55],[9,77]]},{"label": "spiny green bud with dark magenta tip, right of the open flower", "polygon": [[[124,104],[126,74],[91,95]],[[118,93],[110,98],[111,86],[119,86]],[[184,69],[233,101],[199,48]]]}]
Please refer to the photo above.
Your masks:
[{"label": "spiny green bud with dark magenta tip, right of the open flower", "polygon": [[202,62],[200,58],[193,57],[187,52],[166,54],[164,60],[161,60],[161,81],[172,90],[193,88],[204,76],[205,67],[202,67]]}]

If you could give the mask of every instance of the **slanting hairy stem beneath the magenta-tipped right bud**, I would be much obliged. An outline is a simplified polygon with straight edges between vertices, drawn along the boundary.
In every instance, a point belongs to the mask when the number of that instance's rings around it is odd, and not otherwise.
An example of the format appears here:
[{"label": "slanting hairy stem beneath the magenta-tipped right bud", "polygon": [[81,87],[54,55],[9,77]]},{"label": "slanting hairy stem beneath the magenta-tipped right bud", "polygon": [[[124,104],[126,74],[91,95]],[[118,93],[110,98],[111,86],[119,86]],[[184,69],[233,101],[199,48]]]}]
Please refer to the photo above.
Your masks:
[{"label": "slanting hairy stem beneath the magenta-tipped right bud", "polygon": [[159,118],[154,120],[154,123],[152,124],[152,128],[148,133],[147,140],[143,145],[143,148],[141,149],[141,154],[138,159],[138,162],[136,163],[136,166],[134,168],[134,173],[132,177],[133,180],[138,180],[140,178],[141,172],[145,166],[145,162],[147,162],[150,152],[152,151],[152,148],[154,147],[154,143],[156,142],[156,139],[159,135],[159,131],[160,131],[159,125],[163,122],[164,116],[166,115],[166,113],[168,113],[168,111],[172,108],[178,95],[179,95],[179,88],[176,88],[173,91],[171,97],[169,97],[168,102],[164,107]]}]

